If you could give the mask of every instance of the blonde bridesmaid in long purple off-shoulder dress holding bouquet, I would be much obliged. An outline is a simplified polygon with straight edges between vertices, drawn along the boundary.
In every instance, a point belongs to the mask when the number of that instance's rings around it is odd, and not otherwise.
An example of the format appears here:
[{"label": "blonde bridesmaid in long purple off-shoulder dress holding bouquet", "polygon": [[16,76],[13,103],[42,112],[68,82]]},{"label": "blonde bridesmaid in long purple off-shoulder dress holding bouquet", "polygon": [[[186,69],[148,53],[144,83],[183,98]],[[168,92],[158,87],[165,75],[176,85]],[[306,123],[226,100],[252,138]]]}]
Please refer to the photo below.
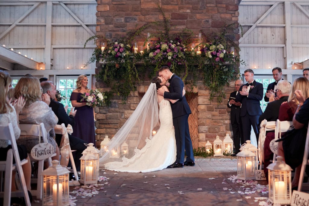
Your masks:
[{"label": "blonde bridesmaid in long purple off-shoulder dress holding bouquet", "polygon": [[82,95],[89,92],[87,87],[88,78],[85,74],[78,76],[76,81],[76,89],[73,90],[70,101],[72,106],[77,110],[75,115],[75,124],[73,126],[72,136],[81,138],[87,143],[95,144],[95,121],[93,116],[93,108],[86,105]]}]

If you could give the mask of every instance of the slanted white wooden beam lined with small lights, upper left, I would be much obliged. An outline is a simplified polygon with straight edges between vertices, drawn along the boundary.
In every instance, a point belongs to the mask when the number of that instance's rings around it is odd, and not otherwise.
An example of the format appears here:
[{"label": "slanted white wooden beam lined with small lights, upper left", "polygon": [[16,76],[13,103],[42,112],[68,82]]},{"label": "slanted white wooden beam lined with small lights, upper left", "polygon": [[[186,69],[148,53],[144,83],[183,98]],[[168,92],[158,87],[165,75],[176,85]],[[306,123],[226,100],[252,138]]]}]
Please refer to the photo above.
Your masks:
[{"label": "slanted white wooden beam lined with small lights, upper left", "polygon": [[0,59],[13,63],[13,64],[20,64],[29,69],[38,69],[38,62],[33,61],[19,53],[11,51],[8,48],[0,46]]}]

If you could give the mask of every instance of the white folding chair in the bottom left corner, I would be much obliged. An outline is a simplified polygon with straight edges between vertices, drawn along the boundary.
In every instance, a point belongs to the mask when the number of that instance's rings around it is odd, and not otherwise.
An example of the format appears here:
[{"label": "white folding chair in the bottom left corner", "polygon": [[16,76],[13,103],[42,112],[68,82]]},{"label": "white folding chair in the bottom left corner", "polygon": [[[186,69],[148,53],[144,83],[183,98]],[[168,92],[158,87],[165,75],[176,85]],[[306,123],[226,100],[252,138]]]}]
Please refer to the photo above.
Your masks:
[{"label": "white folding chair in the bottom left corner", "polygon": [[[23,174],[22,165],[27,163],[28,160],[24,159],[20,161],[19,153],[17,149],[17,144],[15,140],[14,130],[11,123],[8,126],[0,126],[0,140],[9,140],[11,141],[12,149],[9,149],[7,152],[6,161],[0,161],[0,170],[5,172],[5,180],[4,180],[4,192],[1,184],[1,197],[3,197],[3,205],[10,206],[11,205],[11,196],[20,197],[23,196],[25,198],[26,205],[31,205],[29,200],[29,195],[27,191],[26,181]],[[13,164],[13,157],[15,158],[15,164]],[[17,170],[19,180],[21,183],[21,191],[11,192],[12,187],[12,171]],[[2,174],[1,174],[2,179]],[[2,181],[1,181],[2,182]]]}]

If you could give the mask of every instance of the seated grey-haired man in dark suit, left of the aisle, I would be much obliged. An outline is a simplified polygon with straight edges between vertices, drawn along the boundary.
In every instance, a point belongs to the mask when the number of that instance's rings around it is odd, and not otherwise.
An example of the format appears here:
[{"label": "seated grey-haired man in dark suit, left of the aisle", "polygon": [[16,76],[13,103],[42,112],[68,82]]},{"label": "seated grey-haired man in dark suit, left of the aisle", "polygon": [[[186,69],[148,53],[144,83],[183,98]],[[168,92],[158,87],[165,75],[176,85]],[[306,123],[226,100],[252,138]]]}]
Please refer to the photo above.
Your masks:
[{"label": "seated grey-haired man in dark suit, left of the aisle", "polygon": [[[66,110],[63,107],[63,104],[60,102],[56,102],[53,99],[56,97],[56,88],[51,81],[44,81],[41,82],[41,87],[43,89],[43,94],[47,93],[50,97],[50,103],[49,107],[52,108],[53,112],[55,115],[58,117],[58,123],[57,124],[62,124],[64,123],[65,126],[67,127],[68,124],[73,126],[75,124],[74,116],[76,114],[75,111],[70,111],[70,115],[66,113]],[[61,134],[56,134],[56,142],[58,146],[60,145],[62,135]],[[80,160],[82,152],[87,148],[87,146],[84,144],[86,143],[84,140],[79,139],[78,137],[74,137],[69,134],[69,142],[70,142],[70,147],[72,150],[76,150],[75,156],[74,156],[74,163],[76,166],[76,170],[80,171]]]}]

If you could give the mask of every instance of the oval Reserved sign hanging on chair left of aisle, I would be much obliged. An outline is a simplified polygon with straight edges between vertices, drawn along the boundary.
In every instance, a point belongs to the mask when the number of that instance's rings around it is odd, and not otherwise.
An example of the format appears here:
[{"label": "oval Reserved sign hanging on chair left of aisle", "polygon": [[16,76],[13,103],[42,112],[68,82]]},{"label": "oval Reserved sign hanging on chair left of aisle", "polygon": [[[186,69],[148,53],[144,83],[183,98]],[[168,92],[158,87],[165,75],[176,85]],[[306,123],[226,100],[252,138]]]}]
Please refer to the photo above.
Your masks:
[{"label": "oval Reserved sign hanging on chair left of aisle", "polygon": [[52,144],[40,143],[31,149],[30,155],[35,160],[44,160],[51,157],[53,153],[55,153],[55,149]]}]

